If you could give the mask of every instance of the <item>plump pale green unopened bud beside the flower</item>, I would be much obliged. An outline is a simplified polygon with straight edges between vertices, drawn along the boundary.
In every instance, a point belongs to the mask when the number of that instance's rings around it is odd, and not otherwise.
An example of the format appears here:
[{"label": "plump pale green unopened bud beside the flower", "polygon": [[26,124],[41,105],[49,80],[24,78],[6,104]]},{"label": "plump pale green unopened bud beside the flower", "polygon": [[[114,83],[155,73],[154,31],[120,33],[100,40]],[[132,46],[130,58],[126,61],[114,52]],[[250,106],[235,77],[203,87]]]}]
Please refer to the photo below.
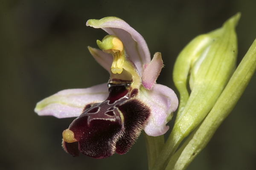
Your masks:
[{"label": "plump pale green unopened bud beside the flower", "polygon": [[239,18],[240,13],[221,28],[195,37],[177,57],[173,79],[181,101],[176,126],[182,133],[188,134],[204,119],[235,70]]}]

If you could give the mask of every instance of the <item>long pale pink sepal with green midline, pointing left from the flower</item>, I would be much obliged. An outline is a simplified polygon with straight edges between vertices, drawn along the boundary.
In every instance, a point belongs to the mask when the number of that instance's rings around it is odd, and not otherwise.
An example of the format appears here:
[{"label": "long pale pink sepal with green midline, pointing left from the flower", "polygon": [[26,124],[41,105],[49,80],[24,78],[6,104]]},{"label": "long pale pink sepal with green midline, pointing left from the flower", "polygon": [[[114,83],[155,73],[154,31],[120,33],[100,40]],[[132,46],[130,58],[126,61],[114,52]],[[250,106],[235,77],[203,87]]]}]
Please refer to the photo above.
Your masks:
[{"label": "long pale pink sepal with green midline, pointing left from the flower", "polygon": [[107,83],[84,89],[63,90],[38,102],[35,112],[40,116],[77,117],[85,105],[102,102],[107,97]]}]

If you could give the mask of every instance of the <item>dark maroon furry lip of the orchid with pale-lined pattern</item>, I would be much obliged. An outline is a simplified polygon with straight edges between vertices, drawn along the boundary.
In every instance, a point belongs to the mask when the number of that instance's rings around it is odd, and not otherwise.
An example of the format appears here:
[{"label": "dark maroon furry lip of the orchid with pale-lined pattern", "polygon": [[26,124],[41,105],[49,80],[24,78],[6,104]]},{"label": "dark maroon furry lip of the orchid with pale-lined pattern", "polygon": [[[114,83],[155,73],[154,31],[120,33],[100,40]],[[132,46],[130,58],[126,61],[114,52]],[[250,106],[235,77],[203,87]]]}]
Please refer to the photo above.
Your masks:
[{"label": "dark maroon furry lip of the orchid with pale-lined pattern", "polygon": [[138,89],[118,84],[111,85],[108,91],[104,102],[86,105],[83,113],[71,123],[68,131],[73,132],[76,142],[63,140],[67,153],[79,156],[80,151],[97,159],[114,152],[124,154],[140,135],[150,108],[136,99]]}]

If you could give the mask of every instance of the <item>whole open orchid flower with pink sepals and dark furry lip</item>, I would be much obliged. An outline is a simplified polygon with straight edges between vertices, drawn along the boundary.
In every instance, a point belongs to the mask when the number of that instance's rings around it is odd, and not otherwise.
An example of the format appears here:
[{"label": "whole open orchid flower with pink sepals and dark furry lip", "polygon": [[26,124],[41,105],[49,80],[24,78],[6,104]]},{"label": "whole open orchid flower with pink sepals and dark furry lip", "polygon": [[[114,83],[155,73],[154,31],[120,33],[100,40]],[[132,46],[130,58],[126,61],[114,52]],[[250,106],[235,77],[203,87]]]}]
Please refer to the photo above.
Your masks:
[{"label": "whole open orchid flower with pink sepals and dark furry lip", "polygon": [[88,47],[110,73],[108,83],[60,91],[38,102],[35,112],[77,117],[62,134],[64,150],[99,159],[126,153],[142,129],[149,136],[166,133],[178,100],[172,89],[156,84],[163,68],[161,54],[151,60],[145,40],[125,21],[105,17],[86,25],[109,34],[97,40],[101,50]]}]

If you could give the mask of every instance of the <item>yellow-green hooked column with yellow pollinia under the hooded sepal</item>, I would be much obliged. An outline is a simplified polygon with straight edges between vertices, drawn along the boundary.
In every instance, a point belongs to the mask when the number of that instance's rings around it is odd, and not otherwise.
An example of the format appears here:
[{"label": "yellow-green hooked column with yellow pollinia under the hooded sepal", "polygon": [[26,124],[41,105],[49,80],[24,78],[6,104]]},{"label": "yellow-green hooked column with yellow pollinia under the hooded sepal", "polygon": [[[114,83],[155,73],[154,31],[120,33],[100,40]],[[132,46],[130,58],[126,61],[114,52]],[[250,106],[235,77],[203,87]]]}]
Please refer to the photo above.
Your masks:
[{"label": "yellow-green hooked column with yellow pollinia under the hooded sepal", "polygon": [[111,65],[112,73],[121,74],[123,71],[123,65],[125,62],[125,52],[124,52],[124,46],[122,44],[122,41],[114,35],[107,35],[102,39],[102,41],[97,40],[97,45],[105,53],[112,54],[113,56],[113,62]]}]

